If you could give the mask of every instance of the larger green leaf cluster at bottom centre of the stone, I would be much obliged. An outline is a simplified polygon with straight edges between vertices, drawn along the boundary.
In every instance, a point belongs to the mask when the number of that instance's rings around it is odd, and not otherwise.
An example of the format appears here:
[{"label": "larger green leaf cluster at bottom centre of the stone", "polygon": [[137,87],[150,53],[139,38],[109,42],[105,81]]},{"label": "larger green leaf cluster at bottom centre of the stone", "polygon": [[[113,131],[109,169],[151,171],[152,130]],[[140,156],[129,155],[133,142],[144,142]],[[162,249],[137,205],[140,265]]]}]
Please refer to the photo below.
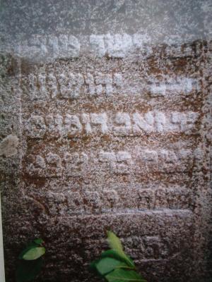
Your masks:
[{"label": "larger green leaf cluster at bottom centre of the stone", "polygon": [[100,259],[90,264],[107,282],[146,282],[136,271],[133,260],[124,253],[122,243],[111,231],[107,231],[110,250],[102,252]]}]

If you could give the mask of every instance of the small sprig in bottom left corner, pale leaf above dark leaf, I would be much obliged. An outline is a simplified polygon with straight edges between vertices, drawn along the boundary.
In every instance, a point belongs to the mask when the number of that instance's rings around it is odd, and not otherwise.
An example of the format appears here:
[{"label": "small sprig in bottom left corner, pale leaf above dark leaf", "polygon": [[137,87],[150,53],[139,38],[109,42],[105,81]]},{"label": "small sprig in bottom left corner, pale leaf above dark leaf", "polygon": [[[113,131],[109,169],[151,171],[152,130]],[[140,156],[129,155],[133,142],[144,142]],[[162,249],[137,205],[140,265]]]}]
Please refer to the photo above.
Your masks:
[{"label": "small sprig in bottom left corner, pale leaf above dark leaf", "polygon": [[43,264],[43,255],[45,255],[44,241],[35,239],[29,243],[25,249],[20,252],[18,267],[16,269],[16,282],[33,281],[40,274]]}]

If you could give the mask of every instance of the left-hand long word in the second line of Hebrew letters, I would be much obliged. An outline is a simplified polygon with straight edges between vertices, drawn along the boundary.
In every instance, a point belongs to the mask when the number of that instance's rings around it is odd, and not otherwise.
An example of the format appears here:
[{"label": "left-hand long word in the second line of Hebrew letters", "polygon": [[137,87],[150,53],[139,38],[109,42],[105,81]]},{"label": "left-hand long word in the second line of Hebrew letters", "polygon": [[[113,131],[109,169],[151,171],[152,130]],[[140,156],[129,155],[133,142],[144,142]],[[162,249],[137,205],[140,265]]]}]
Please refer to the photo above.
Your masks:
[{"label": "left-hand long word in the second line of Hebrew letters", "polygon": [[99,96],[105,94],[110,96],[117,94],[123,85],[121,73],[113,75],[105,73],[71,73],[61,71],[54,74],[52,72],[39,71],[37,74],[30,74],[28,78],[23,78],[23,90],[30,94],[32,99],[77,99],[86,93],[89,96]]}]

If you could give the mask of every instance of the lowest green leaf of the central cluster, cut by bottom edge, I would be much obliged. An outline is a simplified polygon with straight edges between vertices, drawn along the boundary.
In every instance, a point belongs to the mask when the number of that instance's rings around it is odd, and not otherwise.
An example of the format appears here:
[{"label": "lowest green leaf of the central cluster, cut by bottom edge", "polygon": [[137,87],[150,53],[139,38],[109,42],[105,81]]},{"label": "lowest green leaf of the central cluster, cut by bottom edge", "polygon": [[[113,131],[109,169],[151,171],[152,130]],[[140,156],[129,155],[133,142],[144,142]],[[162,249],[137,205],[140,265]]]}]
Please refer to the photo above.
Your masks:
[{"label": "lowest green leaf of the central cluster, cut by bottom edge", "polygon": [[108,282],[146,282],[136,271],[115,269],[105,276]]}]

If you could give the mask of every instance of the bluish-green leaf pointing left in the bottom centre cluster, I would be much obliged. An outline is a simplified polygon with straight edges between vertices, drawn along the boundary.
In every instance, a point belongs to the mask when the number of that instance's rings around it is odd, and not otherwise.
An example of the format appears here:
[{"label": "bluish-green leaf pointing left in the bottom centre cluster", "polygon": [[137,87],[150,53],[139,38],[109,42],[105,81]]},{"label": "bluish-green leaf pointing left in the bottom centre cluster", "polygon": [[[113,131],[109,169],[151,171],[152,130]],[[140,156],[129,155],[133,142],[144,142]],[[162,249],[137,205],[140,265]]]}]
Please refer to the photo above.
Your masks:
[{"label": "bluish-green leaf pointing left in the bottom centre cluster", "polygon": [[117,267],[127,267],[127,264],[124,264],[124,262],[120,262],[117,259],[113,259],[112,257],[105,257],[104,259],[100,259],[100,261],[95,264],[95,267],[101,275],[105,275]]}]

